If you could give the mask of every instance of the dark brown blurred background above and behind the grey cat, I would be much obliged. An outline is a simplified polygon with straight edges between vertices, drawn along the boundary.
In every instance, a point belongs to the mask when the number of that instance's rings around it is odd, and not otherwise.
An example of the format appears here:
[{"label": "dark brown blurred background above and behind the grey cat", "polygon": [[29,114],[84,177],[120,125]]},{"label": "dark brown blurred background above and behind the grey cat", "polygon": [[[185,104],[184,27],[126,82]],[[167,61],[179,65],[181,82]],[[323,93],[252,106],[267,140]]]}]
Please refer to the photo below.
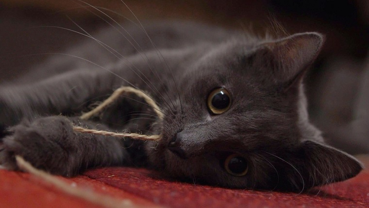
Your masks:
[{"label": "dark brown blurred background above and behind the grey cat", "polygon": [[[120,22],[134,19],[120,0],[85,0],[103,7]],[[124,0],[140,20],[193,20],[226,28],[318,31],[326,42],[305,79],[309,111],[328,142],[351,153],[369,152],[369,0]],[[63,51],[81,36],[70,17],[84,30],[105,27],[79,0],[0,0],[0,82],[24,73],[47,56]],[[68,17],[67,17],[67,16]]]}]

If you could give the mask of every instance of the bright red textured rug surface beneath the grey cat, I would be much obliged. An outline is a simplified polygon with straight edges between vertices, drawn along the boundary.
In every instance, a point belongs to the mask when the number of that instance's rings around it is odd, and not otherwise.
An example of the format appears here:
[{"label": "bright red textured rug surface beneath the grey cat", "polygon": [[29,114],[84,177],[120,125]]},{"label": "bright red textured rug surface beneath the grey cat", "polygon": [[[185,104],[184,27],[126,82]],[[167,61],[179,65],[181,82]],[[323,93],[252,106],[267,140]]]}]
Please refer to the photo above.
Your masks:
[{"label": "bright red textured rug surface beneath the grey cat", "polygon": [[[368,157],[362,160],[369,163]],[[369,170],[347,181],[320,187],[310,193],[232,190],[170,182],[153,178],[145,169],[112,167],[90,170],[75,178],[62,178],[82,187],[143,207],[169,208],[299,208],[369,207]],[[319,191],[320,190],[320,191]],[[96,208],[94,204],[61,192],[27,173],[0,170],[0,207]]]}]

